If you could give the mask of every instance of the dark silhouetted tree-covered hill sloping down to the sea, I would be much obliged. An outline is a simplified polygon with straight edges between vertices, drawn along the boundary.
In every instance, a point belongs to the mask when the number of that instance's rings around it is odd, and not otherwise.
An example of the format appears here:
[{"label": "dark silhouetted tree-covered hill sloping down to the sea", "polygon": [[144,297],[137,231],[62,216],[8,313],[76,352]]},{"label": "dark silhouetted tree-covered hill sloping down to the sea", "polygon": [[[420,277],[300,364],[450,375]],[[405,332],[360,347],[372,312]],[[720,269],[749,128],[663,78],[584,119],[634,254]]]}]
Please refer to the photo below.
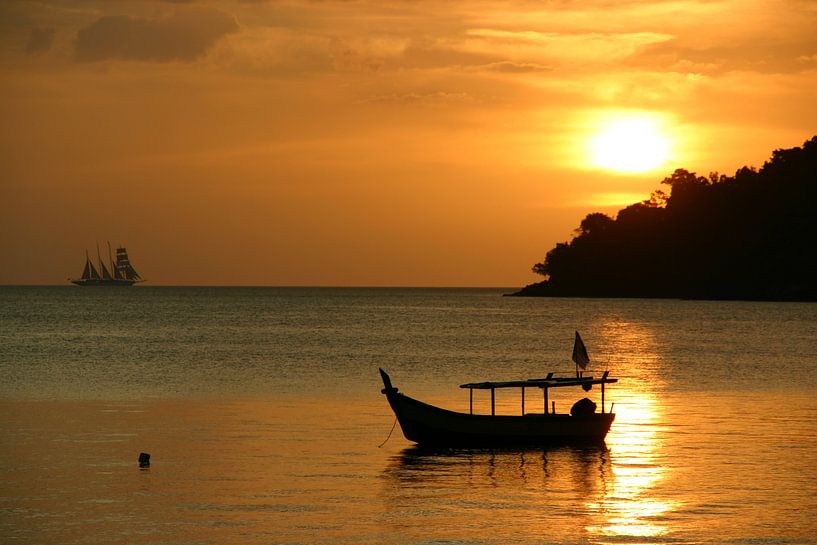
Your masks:
[{"label": "dark silhouetted tree-covered hill sloping down to the sea", "polygon": [[513,295],[817,300],[817,136],[734,176],[665,178],[669,193],[592,213]]}]

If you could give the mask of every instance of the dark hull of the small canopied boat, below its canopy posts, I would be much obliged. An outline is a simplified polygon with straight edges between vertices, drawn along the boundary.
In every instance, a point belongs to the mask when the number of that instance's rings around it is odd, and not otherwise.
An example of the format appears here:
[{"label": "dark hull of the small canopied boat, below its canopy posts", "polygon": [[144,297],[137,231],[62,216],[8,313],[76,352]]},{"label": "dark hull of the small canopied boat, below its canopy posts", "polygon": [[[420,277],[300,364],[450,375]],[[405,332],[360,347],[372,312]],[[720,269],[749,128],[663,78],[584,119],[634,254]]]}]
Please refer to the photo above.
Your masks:
[{"label": "dark hull of the small canopied boat, below its canopy posts", "polygon": [[492,447],[603,443],[612,413],[476,415],[441,409],[385,388],[403,435],[422,446]]}]

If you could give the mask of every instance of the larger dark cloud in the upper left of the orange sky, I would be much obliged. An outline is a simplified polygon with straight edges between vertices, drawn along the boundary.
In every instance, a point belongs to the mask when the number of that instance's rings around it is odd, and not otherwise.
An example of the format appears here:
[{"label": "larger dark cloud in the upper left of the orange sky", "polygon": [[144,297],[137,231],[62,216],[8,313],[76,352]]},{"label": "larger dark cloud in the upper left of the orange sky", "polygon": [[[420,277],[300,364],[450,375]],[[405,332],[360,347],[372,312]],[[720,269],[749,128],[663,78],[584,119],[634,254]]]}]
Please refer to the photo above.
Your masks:
[{"label": "larger dark cloud in the upper left of the orange sky", "polygon": [[237,30],[232,15],[207,7],[178,9],[162,19],[110,15],[77,33],[76,58],[193,61],[219,38]]}]

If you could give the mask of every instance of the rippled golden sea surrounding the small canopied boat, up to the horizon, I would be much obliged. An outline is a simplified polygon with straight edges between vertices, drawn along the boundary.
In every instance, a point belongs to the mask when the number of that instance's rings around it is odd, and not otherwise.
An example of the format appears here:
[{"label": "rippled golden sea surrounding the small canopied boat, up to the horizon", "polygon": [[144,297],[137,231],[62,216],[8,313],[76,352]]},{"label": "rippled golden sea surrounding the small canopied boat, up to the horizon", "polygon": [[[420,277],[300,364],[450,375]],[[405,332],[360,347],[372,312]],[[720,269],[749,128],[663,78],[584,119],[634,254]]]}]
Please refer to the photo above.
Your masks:
[{"label": "rippled golden sea surrounding the small canopied boat, up to the horizon", "polygon": [[[509,291],[0,287],[0,542],[817,544],[817,304]],[[575,331],[603,445],[425,450],[381,394],[467,412]]]}]

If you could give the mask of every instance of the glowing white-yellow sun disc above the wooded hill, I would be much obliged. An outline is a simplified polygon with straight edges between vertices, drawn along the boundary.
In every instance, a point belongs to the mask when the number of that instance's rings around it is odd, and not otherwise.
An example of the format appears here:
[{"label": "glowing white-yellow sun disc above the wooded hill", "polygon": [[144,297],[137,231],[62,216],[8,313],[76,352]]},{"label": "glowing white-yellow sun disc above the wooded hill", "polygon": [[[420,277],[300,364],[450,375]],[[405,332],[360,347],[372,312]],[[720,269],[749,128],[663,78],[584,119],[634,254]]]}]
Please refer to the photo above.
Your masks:
[{"label": "glowing white-yellow sun disc above the wooded hill", "polygon": [[588,147],[594,167],[639,173],[655,170],[667,161],[670,140],[660,118],[620,114],[599,123]]}]

